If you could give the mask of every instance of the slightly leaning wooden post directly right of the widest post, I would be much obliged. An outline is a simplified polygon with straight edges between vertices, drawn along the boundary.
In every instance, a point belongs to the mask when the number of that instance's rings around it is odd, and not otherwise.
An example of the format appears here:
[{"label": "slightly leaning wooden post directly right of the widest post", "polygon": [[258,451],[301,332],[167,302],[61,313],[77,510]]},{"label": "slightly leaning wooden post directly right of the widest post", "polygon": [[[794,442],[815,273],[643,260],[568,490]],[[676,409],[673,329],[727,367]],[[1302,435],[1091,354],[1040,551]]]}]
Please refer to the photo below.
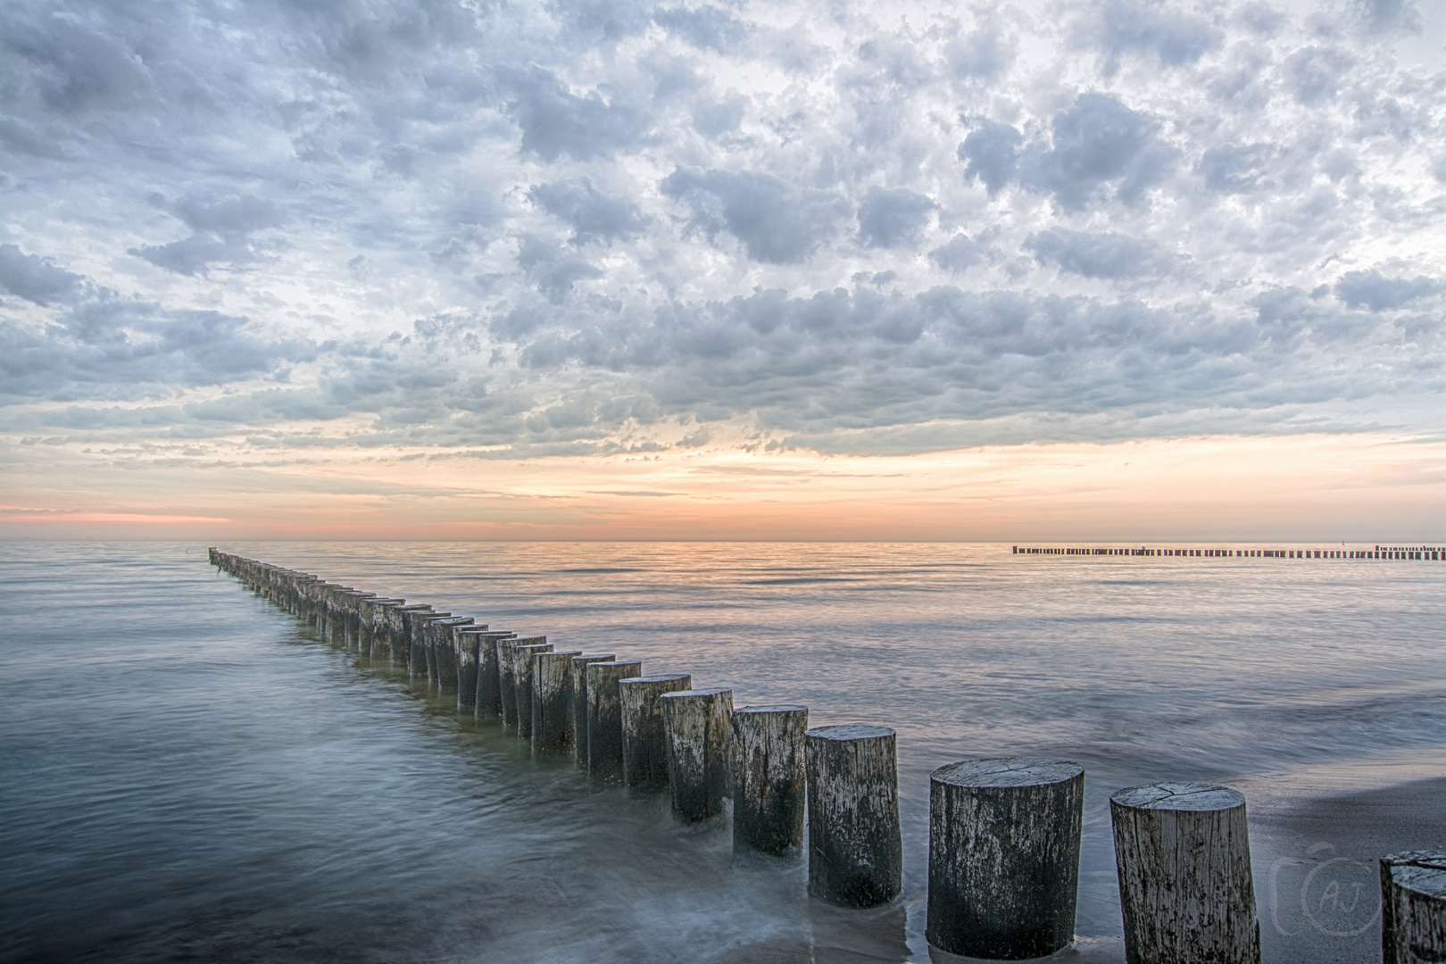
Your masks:
[{"label": "slightly leaning wooden post directly right of the widest post", "polygon": [[1151,783],[1109,798],[1129,964],[1258,964],[1245,796]]}]

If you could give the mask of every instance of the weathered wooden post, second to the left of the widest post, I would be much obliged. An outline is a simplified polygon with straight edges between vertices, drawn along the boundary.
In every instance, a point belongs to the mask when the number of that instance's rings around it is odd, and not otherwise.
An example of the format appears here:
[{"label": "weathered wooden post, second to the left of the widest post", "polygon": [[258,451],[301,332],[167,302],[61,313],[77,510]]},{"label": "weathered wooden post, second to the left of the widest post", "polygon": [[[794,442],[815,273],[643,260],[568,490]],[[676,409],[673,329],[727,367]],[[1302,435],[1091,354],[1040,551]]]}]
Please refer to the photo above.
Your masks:
[{"label": "weathered wooden post, second to the left of the widest post", "polygon": [[804,840],[808,707],[733,711],[733,850],[781,857]]}]

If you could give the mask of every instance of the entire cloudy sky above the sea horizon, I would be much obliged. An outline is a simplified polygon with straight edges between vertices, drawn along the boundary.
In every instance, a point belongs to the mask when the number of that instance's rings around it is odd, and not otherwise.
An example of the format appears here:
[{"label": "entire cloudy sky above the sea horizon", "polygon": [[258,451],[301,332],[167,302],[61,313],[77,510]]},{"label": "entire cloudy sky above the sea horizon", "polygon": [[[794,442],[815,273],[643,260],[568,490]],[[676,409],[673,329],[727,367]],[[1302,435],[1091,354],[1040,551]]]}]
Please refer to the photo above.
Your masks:
[{"label": "entire cloudy sky above the sea horizon", "polygon": [[0,46],[0,536],[1446,538],[1446,4]]}]

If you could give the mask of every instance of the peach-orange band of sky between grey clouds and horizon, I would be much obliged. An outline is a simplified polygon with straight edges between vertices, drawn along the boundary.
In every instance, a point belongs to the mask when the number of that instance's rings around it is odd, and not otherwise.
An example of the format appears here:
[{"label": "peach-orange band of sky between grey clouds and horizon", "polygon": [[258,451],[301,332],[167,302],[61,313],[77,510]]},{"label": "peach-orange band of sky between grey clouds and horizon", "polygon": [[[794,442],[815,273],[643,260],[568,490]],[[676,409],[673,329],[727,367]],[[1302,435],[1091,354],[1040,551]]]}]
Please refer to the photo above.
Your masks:
[{"label": "peach-orange band of sky between grey clouds and horizon", "polygon": [[[855,457],[669,451],[10,473],[7,538],[1440,539],[1446,442],[1190,438]],[[68,464],[69,462],[69,464]],[[84,468],[82,468],[84,465]]]}]

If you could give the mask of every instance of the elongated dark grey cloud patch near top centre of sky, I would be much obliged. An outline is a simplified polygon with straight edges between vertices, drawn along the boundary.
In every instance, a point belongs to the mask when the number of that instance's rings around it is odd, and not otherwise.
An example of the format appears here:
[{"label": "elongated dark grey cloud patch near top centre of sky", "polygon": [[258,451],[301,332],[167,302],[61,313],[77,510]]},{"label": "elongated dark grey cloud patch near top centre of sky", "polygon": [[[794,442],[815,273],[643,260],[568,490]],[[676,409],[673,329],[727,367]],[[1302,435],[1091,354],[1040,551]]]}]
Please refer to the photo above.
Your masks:
[{"label": "elongated dark grey cloud patch near top centre of sky", "polygon": [[662,192],[687,204],[691,225],[710,240],[727,230],[749,257],[769,264],[805,260],[847,215],[844,199],[830,191],[756,171],[678,168],[664,179]]}]

